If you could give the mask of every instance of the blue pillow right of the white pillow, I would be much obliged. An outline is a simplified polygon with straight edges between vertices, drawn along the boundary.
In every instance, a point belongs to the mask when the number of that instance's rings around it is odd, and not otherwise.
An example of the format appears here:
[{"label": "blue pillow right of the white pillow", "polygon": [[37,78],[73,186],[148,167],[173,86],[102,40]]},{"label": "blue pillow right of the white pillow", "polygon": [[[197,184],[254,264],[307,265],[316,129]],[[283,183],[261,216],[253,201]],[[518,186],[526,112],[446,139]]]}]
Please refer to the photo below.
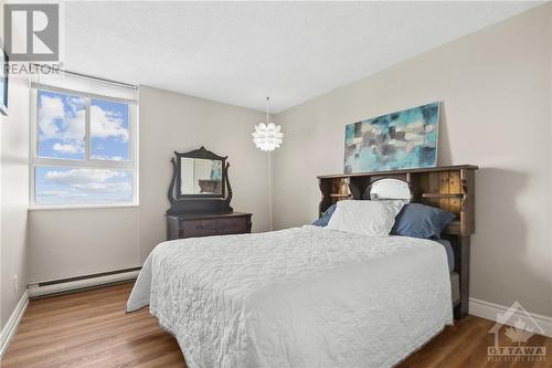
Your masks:
[{"label": "blue pillow right of the white pillow", "polygon": [[422,239],[440,238],[440,232],[455,215],[435,207],[422,203],[407,203],[395,218],[392,235]]}]

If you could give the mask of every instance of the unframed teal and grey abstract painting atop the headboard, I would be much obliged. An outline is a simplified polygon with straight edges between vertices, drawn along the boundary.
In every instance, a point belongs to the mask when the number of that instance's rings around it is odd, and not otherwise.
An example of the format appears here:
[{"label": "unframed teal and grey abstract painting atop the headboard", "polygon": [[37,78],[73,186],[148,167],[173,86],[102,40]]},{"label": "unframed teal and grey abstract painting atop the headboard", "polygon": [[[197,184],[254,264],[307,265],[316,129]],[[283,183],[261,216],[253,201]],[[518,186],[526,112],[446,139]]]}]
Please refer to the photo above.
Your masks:
[{"label": "unframed teal and grey abstract painting atop the headboard", "polygon": [[346,126],[344,172],[435,167],[439,103]]}]

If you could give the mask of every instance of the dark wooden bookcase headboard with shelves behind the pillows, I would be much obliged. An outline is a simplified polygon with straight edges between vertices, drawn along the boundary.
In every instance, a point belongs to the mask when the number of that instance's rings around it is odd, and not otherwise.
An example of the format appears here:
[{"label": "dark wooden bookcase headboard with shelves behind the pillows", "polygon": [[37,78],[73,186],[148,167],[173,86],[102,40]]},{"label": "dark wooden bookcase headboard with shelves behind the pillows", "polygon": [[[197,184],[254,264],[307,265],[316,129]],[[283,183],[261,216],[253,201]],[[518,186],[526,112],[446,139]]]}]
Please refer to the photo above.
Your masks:
[{"label": "dark wooden bookcase headboard with shelves behind the pillows", "polygon": [[[456,214],[443,231],[455,251],[455,272],[460,277],[460,302],[455,306],[455,317],[468,314],[469,298],[469,241],[475,233],[475,171],[477,166],[458,165],[425,169],[372,171],[319,176],[322,194],[319,213],[342,199],[368,200],[369,187],[384,178],[406,181],[412,202],[440,208]],[[348,189],[348,190],[347,190]]]}]

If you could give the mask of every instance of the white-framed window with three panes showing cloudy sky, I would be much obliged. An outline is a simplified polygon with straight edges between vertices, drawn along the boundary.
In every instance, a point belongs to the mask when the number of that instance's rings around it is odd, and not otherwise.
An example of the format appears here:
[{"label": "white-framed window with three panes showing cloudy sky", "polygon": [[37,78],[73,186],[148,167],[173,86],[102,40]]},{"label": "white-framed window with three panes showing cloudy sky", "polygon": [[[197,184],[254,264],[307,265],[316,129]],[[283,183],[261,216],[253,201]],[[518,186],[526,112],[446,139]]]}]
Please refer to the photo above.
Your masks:
[{"label": "white-framed window with three panes showing cloudy sky", "polygon": [[31,204],[136,204],[136,103],[33,86]]}]

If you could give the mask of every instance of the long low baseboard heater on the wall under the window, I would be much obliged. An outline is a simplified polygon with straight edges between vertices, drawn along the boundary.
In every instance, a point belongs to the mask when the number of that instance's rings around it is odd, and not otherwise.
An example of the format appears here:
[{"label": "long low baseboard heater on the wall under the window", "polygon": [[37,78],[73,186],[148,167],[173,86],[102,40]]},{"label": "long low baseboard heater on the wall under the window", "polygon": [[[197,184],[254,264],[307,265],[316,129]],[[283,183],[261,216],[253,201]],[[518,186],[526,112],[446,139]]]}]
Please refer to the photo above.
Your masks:
[{"label": "long low baseboard heater on the wall under the window", "polygon": [[123,281],[129,281],[138,277],[140,271],[129,271],[121,272],[112,275],[97,276],[91,278],[83,278],[77,281],[71,281],[60,284],[52,285],[39,285],[39,284],[30,284],[29,288],[29,297],[39,297],[57,293],[66,293],[79,288],[99,286],[105,284],[118,283]]}]

